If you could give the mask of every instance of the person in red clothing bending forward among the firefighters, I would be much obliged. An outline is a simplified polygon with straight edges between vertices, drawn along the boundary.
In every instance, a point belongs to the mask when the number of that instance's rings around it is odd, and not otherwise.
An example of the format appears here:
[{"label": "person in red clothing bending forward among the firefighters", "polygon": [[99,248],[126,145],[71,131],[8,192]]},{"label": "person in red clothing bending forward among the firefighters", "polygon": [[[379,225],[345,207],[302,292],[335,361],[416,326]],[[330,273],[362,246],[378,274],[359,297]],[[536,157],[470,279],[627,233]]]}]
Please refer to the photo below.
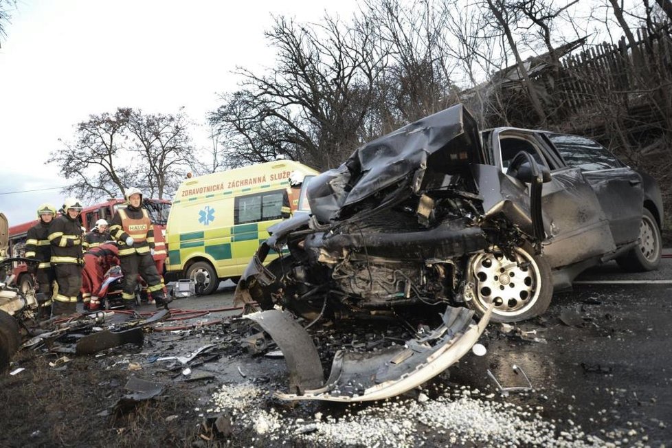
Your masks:
[{"label": "person in red clothing bending forward among the firefighters", "polygon": [[84,253],[82,269],[84,309],[96,311],[100,308],[102,280],[107,270],[116,265],[119,265],[119,248],[114,241],[98,244]]}]

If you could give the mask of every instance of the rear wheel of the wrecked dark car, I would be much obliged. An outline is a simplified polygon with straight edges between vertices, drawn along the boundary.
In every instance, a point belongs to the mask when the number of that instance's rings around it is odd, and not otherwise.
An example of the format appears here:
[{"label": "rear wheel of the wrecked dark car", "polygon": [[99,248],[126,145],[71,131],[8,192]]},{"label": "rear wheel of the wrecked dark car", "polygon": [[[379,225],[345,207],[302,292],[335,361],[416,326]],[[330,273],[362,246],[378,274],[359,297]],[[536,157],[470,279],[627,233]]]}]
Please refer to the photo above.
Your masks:
[{"label": "rear wheel of the wrecked dark car", "polygon": [[637,245],[616,258],[621,269],[628,272],[645,272],[658,269],[662,254],[662,238],[658,223],[649,210],[644,209]]}]

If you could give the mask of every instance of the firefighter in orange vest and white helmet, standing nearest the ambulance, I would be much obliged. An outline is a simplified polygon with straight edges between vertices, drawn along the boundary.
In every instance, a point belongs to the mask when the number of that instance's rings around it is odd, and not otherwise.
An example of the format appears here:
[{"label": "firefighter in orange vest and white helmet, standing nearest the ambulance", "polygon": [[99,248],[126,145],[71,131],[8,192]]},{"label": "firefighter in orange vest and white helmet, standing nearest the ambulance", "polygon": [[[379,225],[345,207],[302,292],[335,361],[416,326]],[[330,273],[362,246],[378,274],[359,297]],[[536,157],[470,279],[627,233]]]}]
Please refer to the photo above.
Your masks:
[{"label": "firefighter in orange vest and white helmet, standing nearest the ambulance", "polygon": [[164,282],[152,258],[154,255],[154,227],[147,210],[142,208],[142,192],[137,188],[126,190],[126,208],[119,208],[112,219],[110,233],[119,242],[119,260],[124,273],[122,299],[127,309],[135,308],[135,286],[138,274],[147,283],[148,293],[157,308],[172,298],[164,292]]}]

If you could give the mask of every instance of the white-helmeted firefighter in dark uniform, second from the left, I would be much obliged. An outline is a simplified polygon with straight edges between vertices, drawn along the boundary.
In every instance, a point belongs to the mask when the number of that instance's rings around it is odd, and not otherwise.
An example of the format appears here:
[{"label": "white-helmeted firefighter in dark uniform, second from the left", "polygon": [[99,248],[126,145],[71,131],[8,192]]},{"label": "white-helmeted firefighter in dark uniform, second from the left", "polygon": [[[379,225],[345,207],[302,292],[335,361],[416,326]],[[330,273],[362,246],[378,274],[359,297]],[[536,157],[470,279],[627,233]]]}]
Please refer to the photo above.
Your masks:
[{"label": "white-helmeted firefighter in dark uniform, second from the left", "polygon": [[82,287],[82,227],[79,214],[82,203],[66,198],[63,214],[49,228],[52,258],[58,291],[53,298],[52,316],[74,314],[77,295]]}]

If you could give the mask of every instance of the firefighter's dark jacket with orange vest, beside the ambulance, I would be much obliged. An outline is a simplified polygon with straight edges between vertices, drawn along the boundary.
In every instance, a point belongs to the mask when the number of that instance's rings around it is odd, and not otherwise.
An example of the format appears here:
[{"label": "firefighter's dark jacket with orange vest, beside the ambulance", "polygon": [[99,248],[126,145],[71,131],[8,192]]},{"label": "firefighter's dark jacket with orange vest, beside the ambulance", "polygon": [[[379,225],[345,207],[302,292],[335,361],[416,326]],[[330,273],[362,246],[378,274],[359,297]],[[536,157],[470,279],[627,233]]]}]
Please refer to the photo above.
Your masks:
[{"label": "firefighter's dark jacket with orange vest, beside the ambulance", "polygon": [[[119,241],[119,256],[149,254],[154,249],[154,227],[147,210],[128,205],[120,208],[112,219],[110,234]],[[131,236],[135,243],[129,247],[126,239]]]}]

